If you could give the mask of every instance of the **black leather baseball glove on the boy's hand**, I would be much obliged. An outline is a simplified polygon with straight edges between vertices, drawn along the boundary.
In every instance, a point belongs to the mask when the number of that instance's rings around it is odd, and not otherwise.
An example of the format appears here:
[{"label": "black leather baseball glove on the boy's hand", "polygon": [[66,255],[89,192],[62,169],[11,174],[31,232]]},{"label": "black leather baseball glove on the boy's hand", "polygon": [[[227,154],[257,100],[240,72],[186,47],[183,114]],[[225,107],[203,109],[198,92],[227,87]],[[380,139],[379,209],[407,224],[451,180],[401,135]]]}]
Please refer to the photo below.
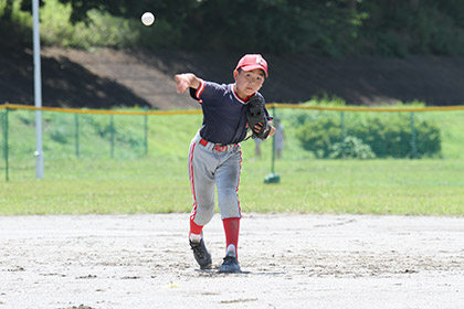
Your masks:
[{"label": "black leather baseball glove on the boy's hand", "polygon": [[[254,95],[246,104],[249,109],[246,120],[252,129],[253,138],[266,139],[271,132],[271,126],[267,122],[266,113],[264,111],[264,100],[261,96]],[[257,127],[260,130],[257,131]]]}]

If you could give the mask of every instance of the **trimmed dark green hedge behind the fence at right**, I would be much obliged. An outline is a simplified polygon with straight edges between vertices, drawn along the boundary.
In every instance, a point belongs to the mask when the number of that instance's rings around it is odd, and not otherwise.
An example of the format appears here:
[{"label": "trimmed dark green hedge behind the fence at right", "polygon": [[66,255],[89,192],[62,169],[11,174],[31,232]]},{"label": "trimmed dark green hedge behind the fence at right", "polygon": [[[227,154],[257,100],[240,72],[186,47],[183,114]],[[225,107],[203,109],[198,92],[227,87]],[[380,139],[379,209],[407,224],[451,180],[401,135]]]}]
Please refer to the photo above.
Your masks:
[{"label": "trimmed dark green hedge behind the fence at right", "polygon": [[[414,121],[408,115],[398,115],[366,116],[344,122],[346,124],[334,116],[307,119],[298,128],[297,139],[302,147],[313,151],[316,158],[368,159],[372,158],[370,151],[377,158],[441,157],[440,129],[430,121]],[[413,130],[411,130],[412,127]],[[347,145],[347,137],[356,139],[349,139],[350,145]],[[351,150],[344,153],[344,147],[340,143]],[[363,154],[356,154],[360,150]]]}]

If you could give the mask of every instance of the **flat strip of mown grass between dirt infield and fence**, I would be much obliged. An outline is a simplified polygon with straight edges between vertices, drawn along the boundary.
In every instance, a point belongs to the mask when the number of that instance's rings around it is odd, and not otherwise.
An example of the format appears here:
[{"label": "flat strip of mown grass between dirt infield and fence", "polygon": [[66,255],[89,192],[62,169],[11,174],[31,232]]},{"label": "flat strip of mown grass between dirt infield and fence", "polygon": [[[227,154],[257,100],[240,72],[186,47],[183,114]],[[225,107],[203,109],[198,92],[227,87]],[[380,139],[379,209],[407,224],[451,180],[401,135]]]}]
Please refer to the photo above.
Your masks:
[{"label": "flat strip of mown grass between dirt infield and fence", "polygon": [[[45,179],[0,183],[0,214],[191,209],[187,160],[68,160],[45,168]],[[244,158],[244,212],[464,215],[460,160],[280,160],[275,171],[281,183],[265,184],[270,162]]]}]

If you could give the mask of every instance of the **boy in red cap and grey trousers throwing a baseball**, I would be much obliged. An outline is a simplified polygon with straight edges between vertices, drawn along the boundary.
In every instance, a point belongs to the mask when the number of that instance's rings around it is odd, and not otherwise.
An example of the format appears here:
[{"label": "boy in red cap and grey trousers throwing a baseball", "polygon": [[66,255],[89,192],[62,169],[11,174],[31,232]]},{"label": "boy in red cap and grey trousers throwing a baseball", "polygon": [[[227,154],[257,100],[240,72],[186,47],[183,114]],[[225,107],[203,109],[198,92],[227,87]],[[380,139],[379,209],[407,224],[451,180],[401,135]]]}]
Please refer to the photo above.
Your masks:
[{"label": "boy in red cap and grey trousers throwing a baseball", "polygon": [[[211,254],[203,241],[203,226],[214,214],[214,187],[218,205],[225,232],[225,257],[219,273],[240,273],[238,243],[241,207],[238,196],[242,151],[240,142],[249,130],[246,105],[259,93],[267,77],[267,62],[260,54],[246,54],[233,71],[233,84],[205,82],[193,73],[175,76],[177,92],[190,90],[192,98],[201,104],[203,124],[190,143],[189,177],[193,194],[190,214],[190,246],[201,269],[211,268]],[[264,108],[265,109],[265,108]],[[272,117],[265,109],[267,124],[260,122],[252,129],[257,132],[268,128],[274,135]]]}]

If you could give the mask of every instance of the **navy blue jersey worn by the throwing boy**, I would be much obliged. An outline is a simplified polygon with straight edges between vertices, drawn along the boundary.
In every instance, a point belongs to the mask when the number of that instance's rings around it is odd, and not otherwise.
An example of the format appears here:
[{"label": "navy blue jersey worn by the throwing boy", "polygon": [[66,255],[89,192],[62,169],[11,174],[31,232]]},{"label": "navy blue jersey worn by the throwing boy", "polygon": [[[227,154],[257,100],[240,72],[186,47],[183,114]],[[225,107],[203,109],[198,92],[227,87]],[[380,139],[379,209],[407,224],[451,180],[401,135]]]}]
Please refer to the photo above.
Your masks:
[{"label": "navy blue jersey worn by the throwing boy", "polygon": [[[190,95],[203,109],[200,135],[208,141],[229,145],[239,143],[246,138],[246,102],[238,96],[233,85],[200,81],[198,89],[190,89]],[[268,111],[265,113],[271,120]]]}]

